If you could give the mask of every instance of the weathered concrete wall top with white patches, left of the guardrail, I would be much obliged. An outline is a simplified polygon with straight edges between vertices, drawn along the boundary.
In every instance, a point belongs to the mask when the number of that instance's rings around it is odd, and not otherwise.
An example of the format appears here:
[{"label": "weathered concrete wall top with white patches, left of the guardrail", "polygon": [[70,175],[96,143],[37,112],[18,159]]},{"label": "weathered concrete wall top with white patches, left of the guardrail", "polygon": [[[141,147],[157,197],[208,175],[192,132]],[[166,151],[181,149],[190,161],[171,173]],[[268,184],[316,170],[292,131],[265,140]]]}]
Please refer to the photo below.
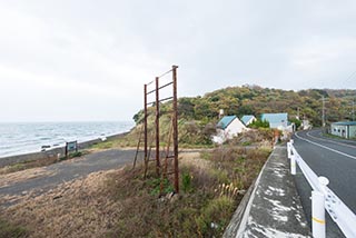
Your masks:
[{"label": "weathered concrete wall top with white patches, left of the guardrail", "polygon": [[285,146],[269,156],[224,237],[310,237]]}]

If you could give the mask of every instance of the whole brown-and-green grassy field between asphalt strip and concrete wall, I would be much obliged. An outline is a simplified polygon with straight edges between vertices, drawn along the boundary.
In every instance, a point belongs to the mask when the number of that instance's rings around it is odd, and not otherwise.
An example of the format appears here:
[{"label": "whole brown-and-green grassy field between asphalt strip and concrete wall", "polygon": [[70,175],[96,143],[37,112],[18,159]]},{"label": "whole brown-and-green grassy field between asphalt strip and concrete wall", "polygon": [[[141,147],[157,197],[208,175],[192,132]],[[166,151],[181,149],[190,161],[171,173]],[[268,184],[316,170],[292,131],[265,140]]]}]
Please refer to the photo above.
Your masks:
[{"label": "whole brown-and-green grassy field between asphalt strip and concrete wall", "polygon": [[[224,148],[181,153],[186,180],[175,196],[159,196],[160,179],[154,168],[145,179],[142,165],[95,172],[40,196],[8,197],[21,200],[1,217],[30,237],[220,237],[243,197],[235,188],[247,189],[267,156]],[[222,189],[224,182],[234,189]]]}]

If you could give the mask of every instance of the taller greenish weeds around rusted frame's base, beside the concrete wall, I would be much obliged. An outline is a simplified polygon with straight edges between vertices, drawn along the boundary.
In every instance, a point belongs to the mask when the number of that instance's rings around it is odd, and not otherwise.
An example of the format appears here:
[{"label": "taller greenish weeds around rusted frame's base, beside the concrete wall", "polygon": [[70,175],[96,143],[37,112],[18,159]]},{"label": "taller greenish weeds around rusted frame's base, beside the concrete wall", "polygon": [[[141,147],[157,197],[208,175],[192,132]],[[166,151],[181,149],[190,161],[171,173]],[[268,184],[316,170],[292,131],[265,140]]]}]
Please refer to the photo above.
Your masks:
[{"label": "taller greenish weeds around rusted frame's base, beside the concrete wall", "polygon": [[[170,189],[159,192],[161,180],[154,167],[147,179],[142,165],[112,175],[108,191],[123,206],[108,237],[221,237],[269,152],[220,148],[204,151],[204,159],[181,161],[180,194],[174,196]],[[168,182],[165,188],[172,189]]]}]

